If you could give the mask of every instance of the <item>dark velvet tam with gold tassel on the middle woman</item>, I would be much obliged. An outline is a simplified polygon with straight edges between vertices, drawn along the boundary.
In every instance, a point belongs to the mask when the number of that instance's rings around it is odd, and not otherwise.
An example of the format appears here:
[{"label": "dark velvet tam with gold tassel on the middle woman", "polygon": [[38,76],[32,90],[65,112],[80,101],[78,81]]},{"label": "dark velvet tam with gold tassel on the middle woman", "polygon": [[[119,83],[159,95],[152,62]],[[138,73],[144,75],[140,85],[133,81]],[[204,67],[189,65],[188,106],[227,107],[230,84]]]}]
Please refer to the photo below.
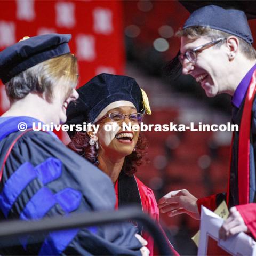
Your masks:
[{"label": "dark velvet tam with gold tassel on the middle woman", "polygon": [[[101,111],[115,101],[130,101],[138,113],[151,114],[146,93],[134,78],[100,74],[77,90],[79,98],[67,109],[67,124],[93,123]],[[68,132],[73,135],[74,132]]]}]

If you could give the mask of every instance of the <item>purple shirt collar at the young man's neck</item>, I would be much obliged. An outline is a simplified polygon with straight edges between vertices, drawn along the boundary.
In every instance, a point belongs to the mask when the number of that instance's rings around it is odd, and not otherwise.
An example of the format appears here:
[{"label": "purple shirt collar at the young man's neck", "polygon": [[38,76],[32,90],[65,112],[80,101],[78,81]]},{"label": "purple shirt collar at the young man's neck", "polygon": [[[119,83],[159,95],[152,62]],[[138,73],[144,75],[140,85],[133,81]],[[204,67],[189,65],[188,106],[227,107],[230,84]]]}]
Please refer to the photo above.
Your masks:
[{"label": "purple shirt collar at the young man's neck", "polygon": [[237,108],[239,108],[241,106],[241,103],[243,102],[247,88],[251,81],[252,74],[255,69],[256,69],[256,64],[247,72],[247,74],[242,79],[242,81],[238,84],[235,90],[235,93],[232,98],[232,104]]}]

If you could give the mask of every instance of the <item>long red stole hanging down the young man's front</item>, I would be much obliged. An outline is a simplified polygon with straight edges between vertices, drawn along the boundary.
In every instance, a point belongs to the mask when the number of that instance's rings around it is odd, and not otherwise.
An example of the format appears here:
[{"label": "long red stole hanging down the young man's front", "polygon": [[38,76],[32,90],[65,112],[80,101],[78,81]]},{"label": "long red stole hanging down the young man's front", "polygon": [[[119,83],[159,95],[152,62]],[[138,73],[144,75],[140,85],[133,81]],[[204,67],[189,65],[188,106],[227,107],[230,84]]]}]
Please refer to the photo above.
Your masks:
[{"label": "long red stole hanging down the young man's front", "polygon": [[[243,115],[239,127],[238,142],[238,191],[239,204],[249,203],[249,178],[250,178],[250,129],[252,105],[256,92],[256,70],[254,71],[249,84],[244,103]],[[232,143],[233,144],[233,143]],[[228,194],[229,197],[229,189]],[[228,202],[227,197],[227,202]]]}]

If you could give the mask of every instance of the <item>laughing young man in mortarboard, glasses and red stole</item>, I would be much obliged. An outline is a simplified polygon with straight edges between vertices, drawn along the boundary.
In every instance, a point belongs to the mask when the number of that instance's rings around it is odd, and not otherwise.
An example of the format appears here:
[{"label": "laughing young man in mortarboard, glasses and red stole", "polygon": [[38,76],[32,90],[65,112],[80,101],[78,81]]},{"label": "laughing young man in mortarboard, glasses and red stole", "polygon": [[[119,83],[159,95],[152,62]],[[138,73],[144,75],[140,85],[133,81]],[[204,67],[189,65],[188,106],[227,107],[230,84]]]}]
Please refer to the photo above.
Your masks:
[{"label": "laughing young man in mortarboard, glasses and red stole", "polygon": [[[170,217],[187,213],[199,219],[201,205],[215,210],[226,200],[230,215],[220,229],[220,237],[227,239],[250,231],[256,238],[256,51],[251,30],[243,11],[224,7],[223,3],[205,6],[199,1],[181,2],[186,2],[183,4],[190,11],[197,9],[177,33],[181,38],[182,73],[193,76],[208,97],[220,93],[233,97],[232,121],[239,125],[239,132],[233,135],[227,193],[197,199],[186,189],[171,191],[159,200],[158,206]],[[252,11],[253,6],[243,7]],[[170,62],[172,68],[173,63]]]}]

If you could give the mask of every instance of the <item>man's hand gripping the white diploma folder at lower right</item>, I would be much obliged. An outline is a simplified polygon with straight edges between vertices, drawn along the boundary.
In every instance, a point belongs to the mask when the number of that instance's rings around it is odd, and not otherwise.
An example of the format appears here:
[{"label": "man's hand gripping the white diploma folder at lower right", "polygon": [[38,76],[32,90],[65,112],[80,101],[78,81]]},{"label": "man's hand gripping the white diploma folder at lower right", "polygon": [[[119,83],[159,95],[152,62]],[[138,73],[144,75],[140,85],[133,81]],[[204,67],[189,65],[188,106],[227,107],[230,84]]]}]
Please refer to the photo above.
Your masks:
[{"label": "man's hand gripping the white diploma folder at lower right", "polygon": [[220,239],[226,240],[230,236],[234,236],[240,232],[247,232],[248,228],[236,207],[231,207],[229,217],[223,222],[219,230]]}]

